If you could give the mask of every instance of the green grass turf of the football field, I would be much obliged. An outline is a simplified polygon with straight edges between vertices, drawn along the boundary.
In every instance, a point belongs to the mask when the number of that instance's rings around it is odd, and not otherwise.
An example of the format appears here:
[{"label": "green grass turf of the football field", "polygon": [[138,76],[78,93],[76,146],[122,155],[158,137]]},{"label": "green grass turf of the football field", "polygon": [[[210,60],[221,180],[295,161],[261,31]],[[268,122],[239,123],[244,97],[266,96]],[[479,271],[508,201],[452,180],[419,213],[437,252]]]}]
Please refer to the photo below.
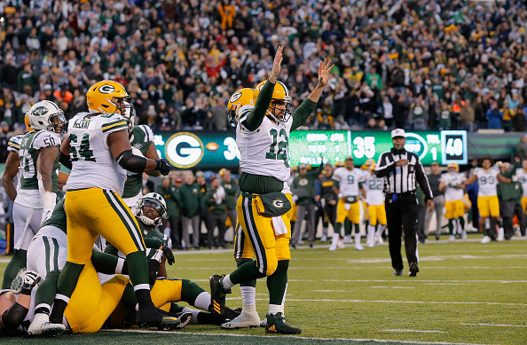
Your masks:
[{"label": "green grass turf of the football field", "polygon": [[[527,343],[527,240],[487,245],[431,242],[420,246],[419,252],[421,271],[411,278],[407,267],[405,276],[392,276],[387,245],[366,247],[364,252],[352,245],[333,253],[327,247],[292,249],[287,322],[301,327],[302,337],[317,339],[265,336],[263,328],[224,331],[212,325],[189,325],[169,334],[105,331],[55,339],[12,338],[9,343],[342,344],[351,339],[363,340],[353,343]],[[0,263],[1,273],[5,264]],[[234,267],[227,252],[176,253],[169,276],[190,278],[208,290],[208,276]],[[256,299],[264,317],[268,302],[264,280],[256,286]],[[239,288],[232,289],[227,305],[241,306]]]}]

